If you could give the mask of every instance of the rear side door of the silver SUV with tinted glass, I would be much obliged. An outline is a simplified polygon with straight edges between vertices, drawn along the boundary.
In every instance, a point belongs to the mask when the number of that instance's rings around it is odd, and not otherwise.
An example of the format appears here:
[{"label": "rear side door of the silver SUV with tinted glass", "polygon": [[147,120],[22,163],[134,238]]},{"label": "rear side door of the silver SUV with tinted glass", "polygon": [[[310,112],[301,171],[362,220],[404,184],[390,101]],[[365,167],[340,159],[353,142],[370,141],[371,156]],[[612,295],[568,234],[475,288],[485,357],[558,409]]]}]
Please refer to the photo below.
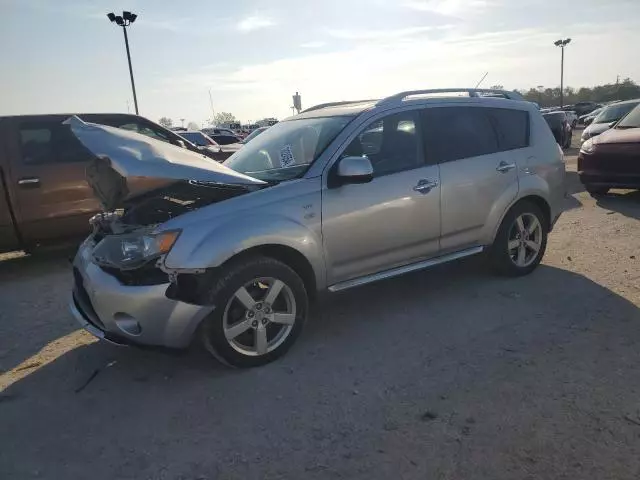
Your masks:
[{"label": "rear side door of the silver SUV with tinted glass", "polygon": [[[526,158],[515,147],[528,143],[528,113],[438,106],[423,110],[422,125],[427,159],[440,165],[441,251],[481,245],[518,193]],[[511,130],[520,131],[520,145]]]}]

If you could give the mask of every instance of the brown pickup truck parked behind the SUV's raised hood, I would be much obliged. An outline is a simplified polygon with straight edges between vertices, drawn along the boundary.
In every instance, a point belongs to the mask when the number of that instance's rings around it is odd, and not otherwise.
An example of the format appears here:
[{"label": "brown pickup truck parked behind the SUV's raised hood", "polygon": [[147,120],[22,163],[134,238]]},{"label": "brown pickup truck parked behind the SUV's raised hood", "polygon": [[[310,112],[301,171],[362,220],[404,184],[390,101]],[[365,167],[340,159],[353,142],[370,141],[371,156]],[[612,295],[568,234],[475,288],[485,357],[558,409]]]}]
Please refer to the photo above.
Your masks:
[{"label": "brown pickup truck parked behind the SUV's raised hood", "polygon": [[[0,252],[67,244],[86,236],[102,210],[85,177],[91,153],[62,122],[70,115],[0,117]],[[137,115],[78,114],[203,152]]]}]

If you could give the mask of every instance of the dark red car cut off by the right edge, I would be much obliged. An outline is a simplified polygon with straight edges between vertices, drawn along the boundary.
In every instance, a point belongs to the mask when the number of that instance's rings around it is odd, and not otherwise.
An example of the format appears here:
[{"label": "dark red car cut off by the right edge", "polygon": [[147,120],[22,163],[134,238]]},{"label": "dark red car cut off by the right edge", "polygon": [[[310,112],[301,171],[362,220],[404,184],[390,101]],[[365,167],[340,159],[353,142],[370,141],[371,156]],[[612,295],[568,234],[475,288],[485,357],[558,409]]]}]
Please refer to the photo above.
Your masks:
[{"label": "dark red car cut off by the right edge", "polygon": [[582,144],[578,176],[591,195],[640,189],[640,105],[613,128]]}]

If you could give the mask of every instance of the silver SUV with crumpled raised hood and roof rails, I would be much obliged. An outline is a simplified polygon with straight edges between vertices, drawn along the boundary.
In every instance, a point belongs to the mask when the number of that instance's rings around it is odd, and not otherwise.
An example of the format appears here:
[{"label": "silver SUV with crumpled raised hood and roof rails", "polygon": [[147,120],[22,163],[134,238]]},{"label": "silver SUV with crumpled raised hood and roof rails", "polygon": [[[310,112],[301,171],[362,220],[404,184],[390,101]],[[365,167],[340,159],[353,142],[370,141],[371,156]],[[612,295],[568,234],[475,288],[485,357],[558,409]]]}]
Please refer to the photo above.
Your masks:
[{"label": "silver SUV with crumpled raised hood and roof rails", "polygon": [[530,273],[565,195],[561,150],[512,92],[319,105],[222,165],[67,123],[96,155],[87,178],[105,210],[74,261],[76,318],[120,344],[197,338],[238,367],[286,352],[319,292],[482,252]]}]

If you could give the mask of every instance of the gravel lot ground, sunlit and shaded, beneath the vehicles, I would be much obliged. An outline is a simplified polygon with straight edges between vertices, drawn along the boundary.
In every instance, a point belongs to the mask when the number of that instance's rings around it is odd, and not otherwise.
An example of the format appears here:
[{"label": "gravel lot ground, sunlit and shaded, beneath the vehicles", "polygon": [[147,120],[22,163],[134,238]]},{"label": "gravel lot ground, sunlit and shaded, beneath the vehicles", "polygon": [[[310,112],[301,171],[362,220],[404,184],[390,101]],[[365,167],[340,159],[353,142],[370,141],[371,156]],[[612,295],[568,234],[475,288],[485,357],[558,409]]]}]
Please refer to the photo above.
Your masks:
[{"label": "gravel lot ground, sunlit and shaded, beneath the vehicles", "polygon": [[65,255],[5,256],[0,478],[640,478],[640,195],[570,181],[531,276],[336,295],[250,371],[95,342]]}]

